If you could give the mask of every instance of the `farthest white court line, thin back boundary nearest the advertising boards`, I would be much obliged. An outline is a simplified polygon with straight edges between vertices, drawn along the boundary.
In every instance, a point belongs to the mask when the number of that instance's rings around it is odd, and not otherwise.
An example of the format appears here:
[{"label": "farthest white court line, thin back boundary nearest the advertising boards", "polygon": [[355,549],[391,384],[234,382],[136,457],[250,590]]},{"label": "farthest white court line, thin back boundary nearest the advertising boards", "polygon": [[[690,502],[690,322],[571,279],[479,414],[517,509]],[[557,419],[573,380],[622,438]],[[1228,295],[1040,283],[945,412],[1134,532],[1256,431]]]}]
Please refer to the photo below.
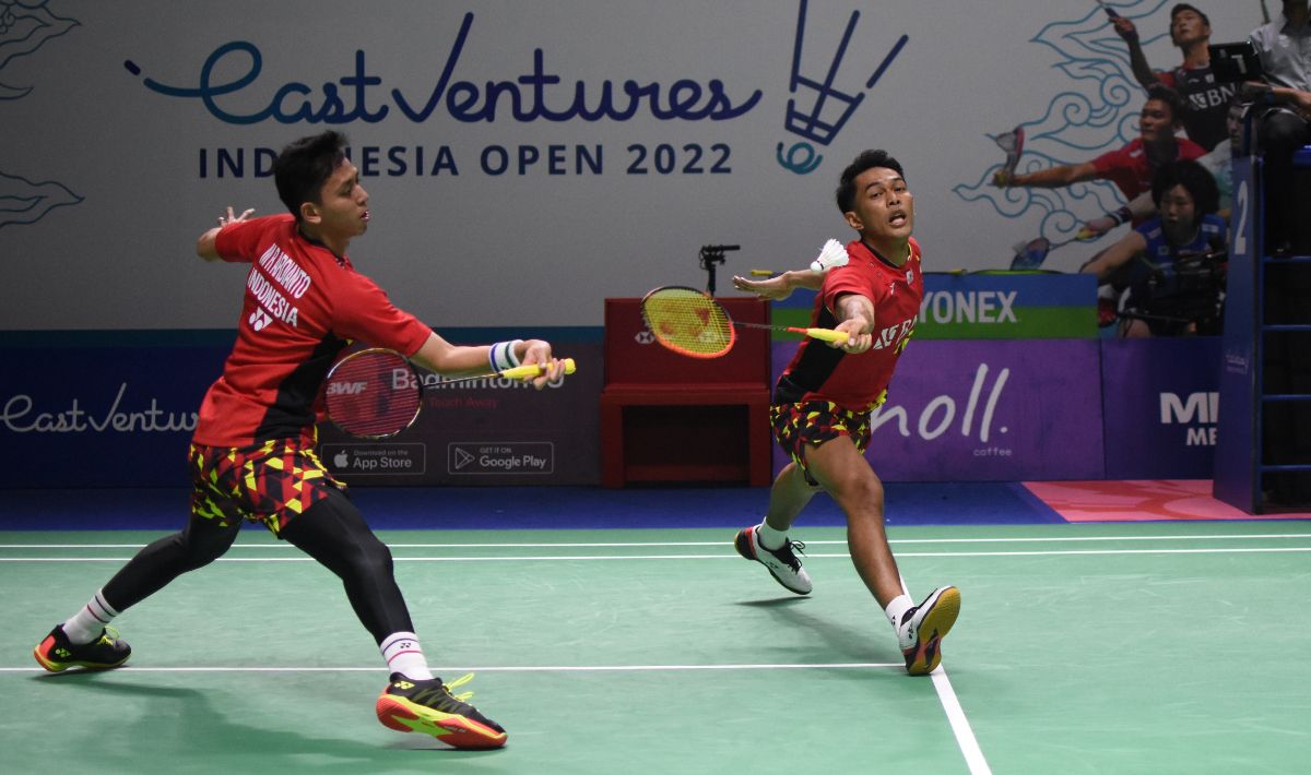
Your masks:
[{"label": "farthest white court line, thin back boundary nearest the advertising boards", "polygon": [[[1083,541],[1253,541],[1308,538],[1311,533],[1264,533],[1244,535],[1067,535],[1053,538],[902,538],[891,545],[910,543],[1065,543]],[[724,541],[616,541],[589,543],[388,543],[392,549],[621,549],[663,546],[724,546]],[[808,546],[846,546],[846,541],[806,541]],[[144,543],[0,543],[0,549],[140,549]],[[287,542],[235,543],[232,549],[295,549]]]}]

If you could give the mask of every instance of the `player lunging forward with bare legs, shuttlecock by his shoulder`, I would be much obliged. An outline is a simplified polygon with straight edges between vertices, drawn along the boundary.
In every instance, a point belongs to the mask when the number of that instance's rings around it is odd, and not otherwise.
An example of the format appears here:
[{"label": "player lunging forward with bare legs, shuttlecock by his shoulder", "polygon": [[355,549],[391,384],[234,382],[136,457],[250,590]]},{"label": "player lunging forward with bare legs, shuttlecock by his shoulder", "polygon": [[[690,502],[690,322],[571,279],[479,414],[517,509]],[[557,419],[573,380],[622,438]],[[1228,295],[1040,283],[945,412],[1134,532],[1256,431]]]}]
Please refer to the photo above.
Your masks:
[{"label": "player lunging forward with bare legs, shuttlecock by his shoulder", "polygon": [[789,271],[768,280],[733,278],[739,291],[785,298],[793,288],[817,289],[810,325],[846,331],[844,344],[802,340],[775,386],[773,437],[792,457],[770,491],[764,521],[738,532],[738,554],[770,569],[797,594],[810,576],[788,530],[823,490],[847,516],[852,563],[897,631],[906,669],[923,676],[941,660],[941,639],[961,607],[954,586],[935,589],[918,606],[906,594],[884,533],[884,487],[864,457],[869,412],[888,398],[897,359],[910,340],[924,296],[915,198],[902,166],[884,151],[865,151],[843,170],[838,209],[859,238],[848,262],[819,274]]}]

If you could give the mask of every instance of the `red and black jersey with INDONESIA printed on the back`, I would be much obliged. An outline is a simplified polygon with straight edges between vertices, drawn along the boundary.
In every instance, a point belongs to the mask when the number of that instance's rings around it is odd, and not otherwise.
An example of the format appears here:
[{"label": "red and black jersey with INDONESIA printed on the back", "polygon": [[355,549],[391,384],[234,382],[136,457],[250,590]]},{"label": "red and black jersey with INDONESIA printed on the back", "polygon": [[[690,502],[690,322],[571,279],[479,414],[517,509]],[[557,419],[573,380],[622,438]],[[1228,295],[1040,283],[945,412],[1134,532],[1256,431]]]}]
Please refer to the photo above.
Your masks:
[{"label": "red and black jersey with INDONESIA printed on the back", "polygon": [[431,334],[350,259],[305,240],[290,213],[225,226],[215,249],[252,266],[237,342],[201,403],[195,444],[307,436],[323,414],[324,376],[353,339],[409,356]]}]

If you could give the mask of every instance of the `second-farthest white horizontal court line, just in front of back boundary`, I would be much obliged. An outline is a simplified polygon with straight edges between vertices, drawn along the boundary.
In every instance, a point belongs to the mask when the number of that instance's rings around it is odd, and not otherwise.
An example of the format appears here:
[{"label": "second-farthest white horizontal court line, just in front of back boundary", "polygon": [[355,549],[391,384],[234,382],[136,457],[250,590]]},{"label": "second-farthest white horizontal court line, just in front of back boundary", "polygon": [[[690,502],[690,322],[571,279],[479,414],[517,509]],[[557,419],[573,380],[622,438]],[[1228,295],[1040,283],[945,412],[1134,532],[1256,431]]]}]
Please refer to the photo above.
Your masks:
[{"label": "second-farthest white horizontal court line, just in front of back boundary", "polygon": [[[1234,547],[1234,549],[1083,549],[1053,551],[899,551],[897,558],[981,558],[981,556],[1075,556],[1075,555],[1164,555],[1164,554],[1270,554],[1270,552],[1311,552],[1311,546],[1283,547]],[[842,554],[806,554],[806,559],[842,558]],[[117,556],[64,556],[64,558],[0,558],[0,563],[122,563],[131,558]],[[606,560],[739,560],[735,554],[616,554],[616,555],[489,555],[489,556],[396,556],[397,563],[522,563],[522,562],[606,562]],[[222,556],[219,563],[313,563],[309,556],[283,558],[229,558]]]}]

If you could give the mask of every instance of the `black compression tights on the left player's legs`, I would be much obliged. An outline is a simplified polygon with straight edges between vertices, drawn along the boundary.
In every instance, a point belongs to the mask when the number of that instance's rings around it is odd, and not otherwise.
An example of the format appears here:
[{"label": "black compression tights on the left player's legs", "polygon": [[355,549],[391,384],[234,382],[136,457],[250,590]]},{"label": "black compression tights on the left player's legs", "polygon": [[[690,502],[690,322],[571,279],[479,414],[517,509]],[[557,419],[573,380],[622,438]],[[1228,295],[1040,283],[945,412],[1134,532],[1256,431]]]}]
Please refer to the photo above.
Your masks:
[{"label": "black compression tights on the left player's legs", "polygon": [[[191,517],[181,533],[151,543],[105,585],[105,602],[119,613],[146,600],[187,571],[223,555],[240,524],[222,526]],[[350,500],[337,490],[282,529],[282,537],[336,573],[361,623],[382,643],[392,632],[413,632],[405,600],[392,575],[392,552],[374,535]]]}]

